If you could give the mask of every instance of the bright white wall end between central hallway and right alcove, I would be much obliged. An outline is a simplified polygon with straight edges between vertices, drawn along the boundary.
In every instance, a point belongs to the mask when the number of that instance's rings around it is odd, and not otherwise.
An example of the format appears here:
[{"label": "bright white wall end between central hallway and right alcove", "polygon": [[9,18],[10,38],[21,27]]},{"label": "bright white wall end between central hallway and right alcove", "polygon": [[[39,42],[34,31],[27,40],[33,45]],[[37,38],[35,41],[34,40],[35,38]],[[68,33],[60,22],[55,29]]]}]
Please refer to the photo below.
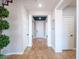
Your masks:
[{"label": "bright white wall end between central hallway and right alcove", "polygon": [[62,10],[55,9],[55,52],[62,52],[63,19]]}]

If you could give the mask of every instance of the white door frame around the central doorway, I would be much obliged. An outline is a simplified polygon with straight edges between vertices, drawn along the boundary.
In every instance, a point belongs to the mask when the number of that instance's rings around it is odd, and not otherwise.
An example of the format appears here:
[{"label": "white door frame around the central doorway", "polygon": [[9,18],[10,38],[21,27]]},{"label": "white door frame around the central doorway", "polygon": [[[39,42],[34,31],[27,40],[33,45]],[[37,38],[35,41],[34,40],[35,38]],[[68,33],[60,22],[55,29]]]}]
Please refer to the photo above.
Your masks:
[{"label": "white door frame around the central doorway", "polygon": [[[33,16],[38,16],[38,14],[29,14],[29,47],[32,47],[32,17]],[[39,16],[47,16],[47,45],[48,47],[51,47],[51,15],[50,14],[41,14]]]}]

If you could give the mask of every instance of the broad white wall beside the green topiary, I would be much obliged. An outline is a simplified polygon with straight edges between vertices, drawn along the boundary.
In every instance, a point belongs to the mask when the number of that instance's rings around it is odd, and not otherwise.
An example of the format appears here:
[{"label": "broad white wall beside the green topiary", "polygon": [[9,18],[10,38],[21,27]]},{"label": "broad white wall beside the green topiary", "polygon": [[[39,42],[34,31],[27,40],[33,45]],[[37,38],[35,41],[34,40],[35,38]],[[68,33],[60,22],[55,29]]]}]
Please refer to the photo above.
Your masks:
[{"label": "broad white wall beside the green topiary", "polygon": [[8,22],[10,29],[4,31],[10,37],[10,44],[2,50],[2,53],[22,54],[27,47],[28,19],[24,6],[20,1],[14,0],[13,4],[7,7],[10,11]]}]

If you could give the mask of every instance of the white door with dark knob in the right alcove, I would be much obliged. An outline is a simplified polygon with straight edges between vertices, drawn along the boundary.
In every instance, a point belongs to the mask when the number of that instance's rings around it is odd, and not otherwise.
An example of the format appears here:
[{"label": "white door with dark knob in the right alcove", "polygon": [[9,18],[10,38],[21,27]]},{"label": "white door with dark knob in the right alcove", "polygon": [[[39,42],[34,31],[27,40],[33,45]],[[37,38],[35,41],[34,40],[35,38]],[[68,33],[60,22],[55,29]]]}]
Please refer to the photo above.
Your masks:
[{"label": "white door with dark knob in the right alcove", "polygon": [[73,49],[75,45],[74,39],[74,17],[67,16],[64,17],[64,48],[65,49]]}]

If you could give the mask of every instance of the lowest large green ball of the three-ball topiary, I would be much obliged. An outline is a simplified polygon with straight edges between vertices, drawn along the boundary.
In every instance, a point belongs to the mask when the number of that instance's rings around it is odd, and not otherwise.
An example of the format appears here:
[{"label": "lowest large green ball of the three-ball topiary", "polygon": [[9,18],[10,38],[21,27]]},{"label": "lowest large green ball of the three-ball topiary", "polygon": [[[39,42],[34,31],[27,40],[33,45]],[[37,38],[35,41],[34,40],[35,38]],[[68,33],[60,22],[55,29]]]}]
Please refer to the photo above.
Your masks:
[{"label": "lowest large green ball of the three-ball topiary", "polygon": [[4,48],[9,44],[9,37],[6,35],[0,35],[0,48]]}]

